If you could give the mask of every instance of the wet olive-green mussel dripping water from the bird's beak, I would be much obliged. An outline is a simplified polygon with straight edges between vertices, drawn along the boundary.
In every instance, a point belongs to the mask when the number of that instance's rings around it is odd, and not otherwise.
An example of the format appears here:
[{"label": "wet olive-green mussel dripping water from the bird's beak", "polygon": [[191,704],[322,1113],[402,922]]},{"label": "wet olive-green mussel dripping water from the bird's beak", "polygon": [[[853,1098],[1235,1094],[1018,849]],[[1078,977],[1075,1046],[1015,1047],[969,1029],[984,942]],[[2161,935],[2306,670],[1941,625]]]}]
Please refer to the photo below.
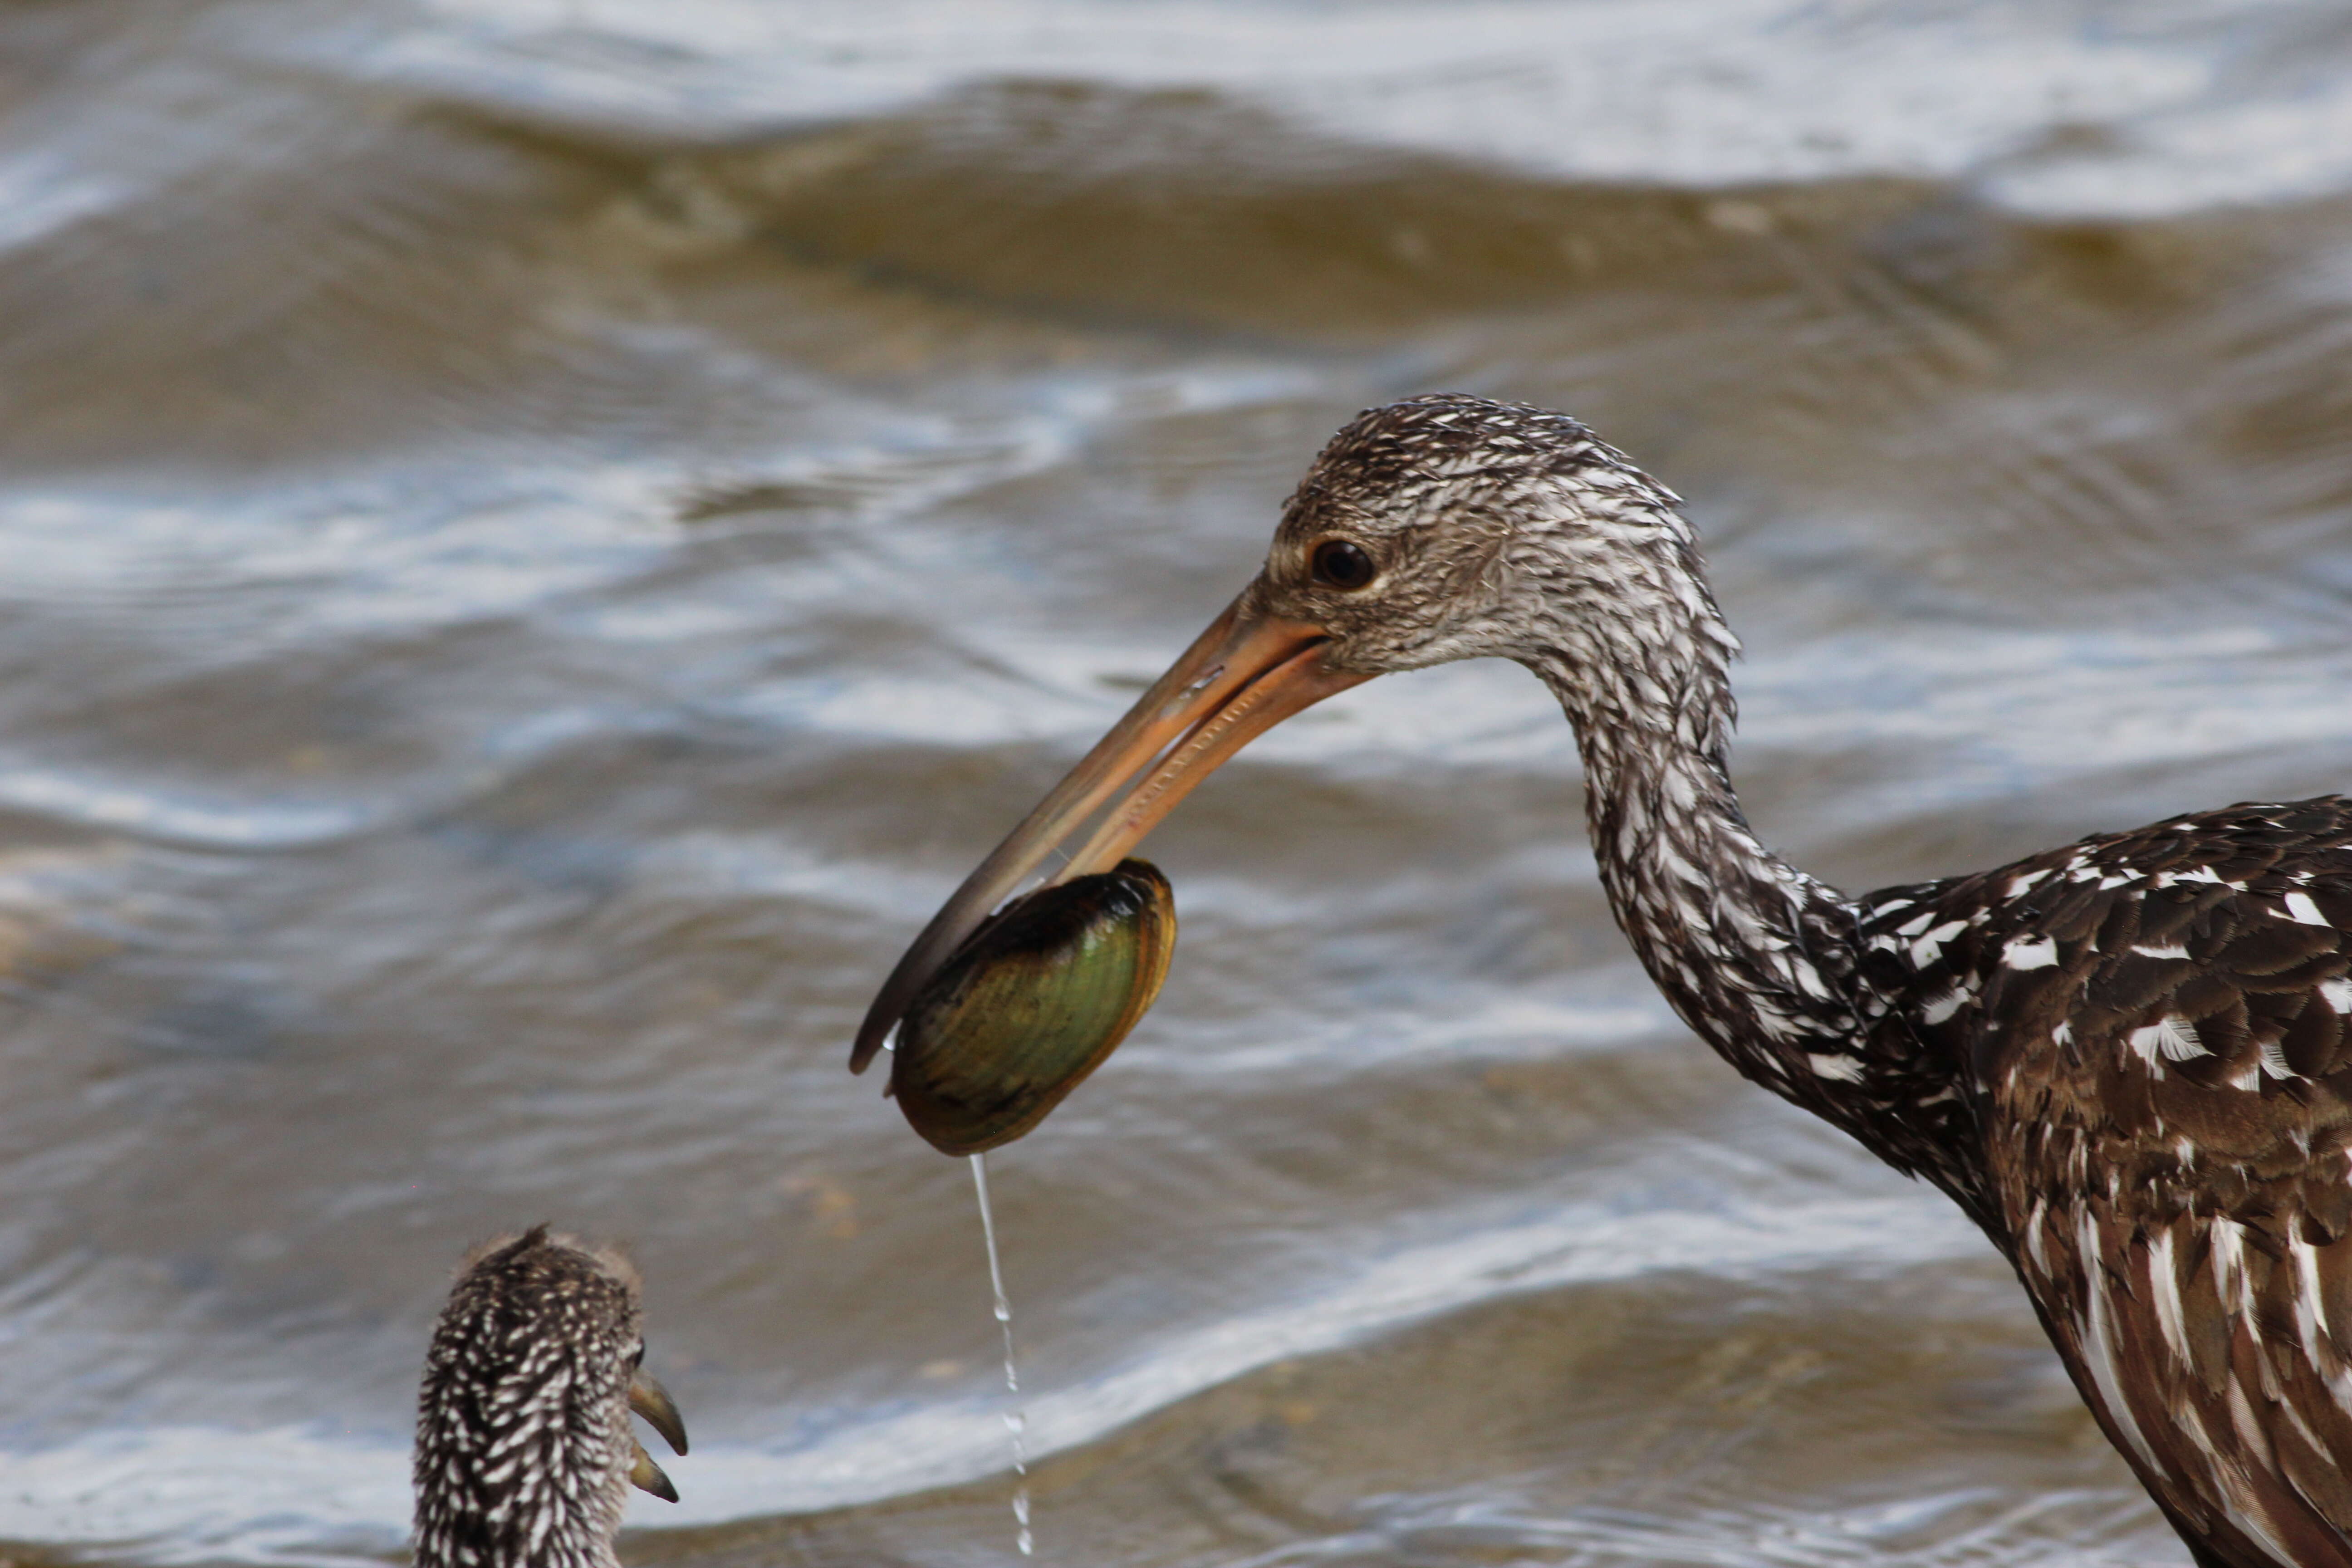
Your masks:
[{"label": "wet olive-green mussel dripping water from the bird's beak", "polygon": [[941,1154],[1021,1138],[1127,1039],[1174,952],[1176,896],[1148,860],[1011,900],[906,1009],[898,1110]]}]

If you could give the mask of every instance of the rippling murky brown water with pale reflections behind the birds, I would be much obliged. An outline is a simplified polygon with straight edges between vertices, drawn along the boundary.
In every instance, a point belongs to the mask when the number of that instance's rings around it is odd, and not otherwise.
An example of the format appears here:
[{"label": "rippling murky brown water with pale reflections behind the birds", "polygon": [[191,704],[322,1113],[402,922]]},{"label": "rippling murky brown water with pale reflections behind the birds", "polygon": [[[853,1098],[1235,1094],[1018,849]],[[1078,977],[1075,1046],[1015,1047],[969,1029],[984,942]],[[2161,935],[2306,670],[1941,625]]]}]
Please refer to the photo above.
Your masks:
[{"label": "rippling murky brown water with pale reflections behind the birds", "polygon": [[[19,5],[0,1537],[397,1554],[466,1241],[628,1239],[633,1563],[1004,1563],[971,860],[1456,388],[1691,498],[1851,886],[2352,780],[2338,5]],[[1047,1563],[2185,1561],[1926,1190],[1609,924],[1519,670],[1152,842],[995,1157]],[[656,1528],[659,1526],[659,1528]],[[14,1552],[14,1549],[12,1549]]]}]

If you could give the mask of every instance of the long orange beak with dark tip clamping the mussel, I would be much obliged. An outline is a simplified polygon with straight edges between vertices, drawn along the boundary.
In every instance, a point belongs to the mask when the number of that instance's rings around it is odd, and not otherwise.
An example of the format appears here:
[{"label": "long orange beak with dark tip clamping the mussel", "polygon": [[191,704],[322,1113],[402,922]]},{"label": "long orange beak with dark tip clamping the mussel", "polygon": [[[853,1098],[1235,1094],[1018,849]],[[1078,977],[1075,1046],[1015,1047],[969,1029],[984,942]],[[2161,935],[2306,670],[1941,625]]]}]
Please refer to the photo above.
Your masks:
[{"label": "long orange beak with dark tip clamping the mussel", "polygon": [[1254,614],[1247,599],[1244,592],[1228,604],[955,889],[866,1011],[849,1051],[851,1072],[866,1072],[924,980],[1096,811],[1108,804],[1101,825],[1049,882],[1108,872],[1221,762],[1294,712],[1371,679],[1324,668],[1331,637],[1319,625]]}]

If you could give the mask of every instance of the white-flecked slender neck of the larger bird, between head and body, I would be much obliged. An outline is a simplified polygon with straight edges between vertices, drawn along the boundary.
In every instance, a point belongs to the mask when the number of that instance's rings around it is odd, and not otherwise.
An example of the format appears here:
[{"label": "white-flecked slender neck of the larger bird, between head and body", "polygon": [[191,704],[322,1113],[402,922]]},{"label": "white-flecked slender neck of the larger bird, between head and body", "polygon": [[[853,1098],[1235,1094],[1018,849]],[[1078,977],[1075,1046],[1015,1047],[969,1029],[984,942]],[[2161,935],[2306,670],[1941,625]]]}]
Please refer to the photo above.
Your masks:
[{"label": "white-flecked slender neck of the larger bird, between head and body", "polygon": [[1576,726],[1592,853],[1642,966],[1745,1077],[1830,1110],[1860,1077],[1853,910],[1748,827],[1724,769],[1733,644],[1686,646],[1686,668],[1531,663]]}]

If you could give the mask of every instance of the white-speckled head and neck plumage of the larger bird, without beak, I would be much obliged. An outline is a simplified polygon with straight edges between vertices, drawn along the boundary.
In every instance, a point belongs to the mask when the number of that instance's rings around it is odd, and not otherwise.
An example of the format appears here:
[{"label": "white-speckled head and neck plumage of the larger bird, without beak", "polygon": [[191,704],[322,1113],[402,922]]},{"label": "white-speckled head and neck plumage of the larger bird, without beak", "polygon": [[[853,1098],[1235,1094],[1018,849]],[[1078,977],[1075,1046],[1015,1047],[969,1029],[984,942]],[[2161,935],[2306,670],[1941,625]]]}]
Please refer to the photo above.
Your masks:
[{"label": "white-speckled head and neck plumage of the larger bird, without beak", "polygon": [[1679,498],[1566,414],[1416,397],[1343,430],[1282,531],[1367,527],[1399,581],[1345,625],[1343,658],[1531,668],[1576,726],[1618,926],[1684,1023],[1905,1171],[1966,1187],[1945,1147],[1915,1135],[1915,1103],[1950,1091],[1950,1072],[1875,1074],[1858,1053],[1856,905],[1740,813],[1726,764],[1738,639]]}]

